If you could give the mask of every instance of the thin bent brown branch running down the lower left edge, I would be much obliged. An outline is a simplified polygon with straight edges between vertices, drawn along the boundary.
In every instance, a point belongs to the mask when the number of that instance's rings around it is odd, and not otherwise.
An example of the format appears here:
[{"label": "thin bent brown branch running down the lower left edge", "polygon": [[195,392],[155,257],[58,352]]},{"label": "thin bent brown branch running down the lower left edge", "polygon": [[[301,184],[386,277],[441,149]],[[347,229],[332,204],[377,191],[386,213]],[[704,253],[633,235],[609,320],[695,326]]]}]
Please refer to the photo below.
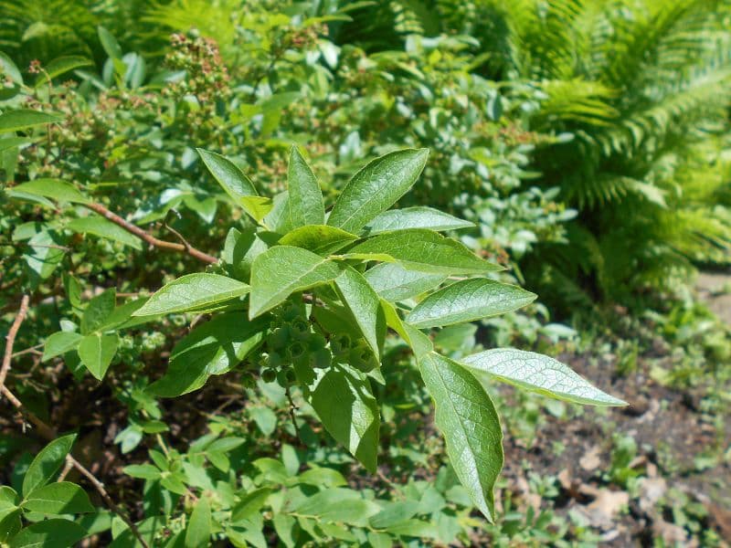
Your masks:
[{"label": "thin bent brown branch running down the lower left edge", "polygon": [[[7,376],[8,371],[10,371],[10,362],[13,358],[13,345],[16,342],[16,335],[18,330],[20,329],[20,324],[23,323],[23,321],[26,319],[26,314],[28,311],[28,301],[29,297],[27,295],[23,295],[23,299],[20,301],[20,309],[17,311],[16,320],[13,321],[13,325],[10,327],[10,331],[7,332],[7,342],[5,343],[3,366],[2,369],[0,369],[0,394],[5,395],[8,401],[37,427],[38,433],[42,437],[45,437],[46,439],[48,439],[48,441],[52,441],[58,436],[56,430],[53,427],[49,427],[38,416],[28,411],[23,406],[23,402],[21,402],[16,397],[16,395],[8,390],[7,386],[5,386],[5,377]],[[122,519],[122,521],[127,524],[132,534],[143,545],[143,548],[149,548],[149,545],[144,541],[142,534],[140,533],[139,529],[137,529],[137,526],[134,524],[134,522],[132,522],[132,519],[130,519],[124,512],[122,512],[120,507],[111,500],[109,493],[106,489],[104,489],[104,484],[101,483],[99,479],[96,479],[96,477],[88,469],[86,469],[76,458],[73,458],[71,455],[66,456],[66,462],[68,465],[73,466],[75,469],[79,470],[79,473],[84,476],[84,478],[89,479],[91,485],[93,485],[94,488],[99,492],[101,498],[107,503],[110,510],[117,514]]]}]

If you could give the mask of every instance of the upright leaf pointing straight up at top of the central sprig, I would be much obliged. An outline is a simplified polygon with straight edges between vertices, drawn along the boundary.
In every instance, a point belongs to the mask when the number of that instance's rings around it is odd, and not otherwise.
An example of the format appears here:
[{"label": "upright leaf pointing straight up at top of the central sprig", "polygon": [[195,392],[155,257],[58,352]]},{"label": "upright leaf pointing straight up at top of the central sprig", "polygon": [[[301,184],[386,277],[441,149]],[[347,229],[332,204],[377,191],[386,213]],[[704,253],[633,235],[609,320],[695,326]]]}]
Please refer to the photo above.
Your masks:
[{"label": "upright leaf pointing straight up at top of the central sprig", "polygon": [[322,225],[325,222],[323,192],[312,168],[296,146],[291,147],[287,184],[291,226]]}]

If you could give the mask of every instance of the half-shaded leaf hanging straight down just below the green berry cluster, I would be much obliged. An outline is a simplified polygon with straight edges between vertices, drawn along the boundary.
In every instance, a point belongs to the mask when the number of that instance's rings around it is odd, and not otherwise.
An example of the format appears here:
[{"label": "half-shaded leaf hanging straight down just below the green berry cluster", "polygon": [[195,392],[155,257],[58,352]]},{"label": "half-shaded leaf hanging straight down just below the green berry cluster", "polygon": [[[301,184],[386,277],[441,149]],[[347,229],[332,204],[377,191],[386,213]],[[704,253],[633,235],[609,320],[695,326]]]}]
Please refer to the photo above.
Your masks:
[{"label": "half-shaded leaf hanging straight down just below the green berry cluster", "polygon": [[[365,469],[376,471],[378,403],[365,374],[347,364],[328,369],[295,369],[306,397],[323,427],[335,440],[360,460]],[[308,378],[313,377],[313,378]]]}]

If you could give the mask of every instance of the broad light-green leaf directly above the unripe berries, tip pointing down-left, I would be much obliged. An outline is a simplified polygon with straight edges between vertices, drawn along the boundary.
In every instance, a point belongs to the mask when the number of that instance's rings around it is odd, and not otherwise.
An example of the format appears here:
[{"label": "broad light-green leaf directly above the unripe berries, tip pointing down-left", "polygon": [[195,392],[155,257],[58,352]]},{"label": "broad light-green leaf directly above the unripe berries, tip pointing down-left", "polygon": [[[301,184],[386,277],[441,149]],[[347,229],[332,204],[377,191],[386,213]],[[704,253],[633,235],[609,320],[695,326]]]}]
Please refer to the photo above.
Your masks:
[{"label": "broad light-green leaf directly above the unripe berries, tip pointing down-left", "polygon": [[295,291],[327,283],[339,274],[337,264],[306,249],[270,248],[251,265],[249,318],[271,310]]}]

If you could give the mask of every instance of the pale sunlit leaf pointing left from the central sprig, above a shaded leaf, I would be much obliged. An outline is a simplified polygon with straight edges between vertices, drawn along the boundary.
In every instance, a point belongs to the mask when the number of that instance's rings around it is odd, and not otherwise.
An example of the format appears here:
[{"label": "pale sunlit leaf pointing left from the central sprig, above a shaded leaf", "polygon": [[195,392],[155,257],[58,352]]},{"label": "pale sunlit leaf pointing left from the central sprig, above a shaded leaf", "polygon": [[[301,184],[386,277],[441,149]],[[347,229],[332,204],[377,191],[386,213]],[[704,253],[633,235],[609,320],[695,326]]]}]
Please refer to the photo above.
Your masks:
[{"label": "pale sunlit leaf pointing left from the central sprig, above a shaded leaf", "polygon": [[186,274],[154,293],[132,316],[171,314],[200,309],[236,299],[249,292],[249,286],[218,274]]}]

